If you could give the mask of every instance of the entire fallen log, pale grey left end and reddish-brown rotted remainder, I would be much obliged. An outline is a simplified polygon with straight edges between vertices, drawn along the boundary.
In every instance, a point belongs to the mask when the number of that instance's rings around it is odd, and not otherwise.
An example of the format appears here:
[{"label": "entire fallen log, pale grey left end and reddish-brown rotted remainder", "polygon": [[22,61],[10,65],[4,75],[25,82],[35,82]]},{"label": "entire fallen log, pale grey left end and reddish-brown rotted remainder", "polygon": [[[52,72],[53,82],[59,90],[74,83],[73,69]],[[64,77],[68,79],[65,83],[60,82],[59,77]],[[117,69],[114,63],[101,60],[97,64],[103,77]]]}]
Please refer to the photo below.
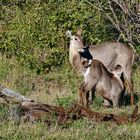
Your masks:
[{"label": "entire fallen log, pale grey left end and reddish-brown rotted remainder", "polygon": [[63,108],[34,102],[32,99],[12,91],[11,89],[2,88],[0,97],[16,100],[20,104],[21,115],[26,121],[44,121],[47,125],[51,125],[52,120],[58,124],[64,124],[68,121],[75,121],[80,118],[89,118],[95,122],[111,121],[117,124],[133,123],[139,119],[138,106],[135,107],[133,113],[128,116],[120,116],[116,114],[99,113],[85,108],[78,104],[70,108]]}]

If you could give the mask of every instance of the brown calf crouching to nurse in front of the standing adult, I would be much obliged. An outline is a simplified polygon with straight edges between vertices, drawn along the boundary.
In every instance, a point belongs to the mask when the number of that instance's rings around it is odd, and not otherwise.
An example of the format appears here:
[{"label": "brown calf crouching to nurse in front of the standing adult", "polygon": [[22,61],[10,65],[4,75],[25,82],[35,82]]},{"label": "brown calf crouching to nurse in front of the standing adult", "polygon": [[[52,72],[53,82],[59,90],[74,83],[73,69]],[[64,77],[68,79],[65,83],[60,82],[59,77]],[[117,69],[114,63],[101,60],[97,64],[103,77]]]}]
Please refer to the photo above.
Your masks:
[{"label": "brown calf crouching to nurse in front of the standing adult", "polygon": [[[89,106],[89,91],[97,91],[104,98],[104,105],[118,107],[121,105],[121,99],[124,92],[124,84],[118,74],[110,73],[103,63],[99,60],[83,59],[84,82],[80,86],[80,103],[85,107]],[[85,64],[87,63],[87,64]],[[118,71],[117,71],[118,72]],[[115,73],[115,72],[114,72]]]}]

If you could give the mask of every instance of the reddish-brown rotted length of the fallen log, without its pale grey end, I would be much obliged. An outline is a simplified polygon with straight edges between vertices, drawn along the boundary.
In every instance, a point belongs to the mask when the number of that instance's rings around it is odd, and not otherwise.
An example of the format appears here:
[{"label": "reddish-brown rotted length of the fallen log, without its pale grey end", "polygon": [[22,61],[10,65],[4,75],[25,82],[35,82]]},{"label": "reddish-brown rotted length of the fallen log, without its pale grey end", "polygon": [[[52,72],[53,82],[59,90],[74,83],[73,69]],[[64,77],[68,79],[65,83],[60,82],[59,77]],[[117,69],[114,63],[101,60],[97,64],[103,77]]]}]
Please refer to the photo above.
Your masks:
[{"label": "reddish-brown rotted length of the fallen log, without its pale grey end", "polygon": [[[30,107],[29,107],[30,106]],[[90,110],[89,108],[82,107],[75,104],[71,108],[64,109],[63,107],[51,106],[48,104],[40,104],[33,102],[22,103],[23,110],[28,110],[31,118],[41,117],[40,114],[48,115],[55,114],[55,117],[59,124],[66,123],[67,121],[74,121],[79,118],[89,118],[95,122],[112,121],[117,124],[132,123],[138,120],[138,107],[136,106],[132,115],[129,116],[119,116],[115,114],[99,113]],[[35,111],[35,112],[34,112]],[[34,114],[33,114],[34,112]],[[36,114],[35,114],[36,113]],[[35,116],[34,116],[35,115]]]}]

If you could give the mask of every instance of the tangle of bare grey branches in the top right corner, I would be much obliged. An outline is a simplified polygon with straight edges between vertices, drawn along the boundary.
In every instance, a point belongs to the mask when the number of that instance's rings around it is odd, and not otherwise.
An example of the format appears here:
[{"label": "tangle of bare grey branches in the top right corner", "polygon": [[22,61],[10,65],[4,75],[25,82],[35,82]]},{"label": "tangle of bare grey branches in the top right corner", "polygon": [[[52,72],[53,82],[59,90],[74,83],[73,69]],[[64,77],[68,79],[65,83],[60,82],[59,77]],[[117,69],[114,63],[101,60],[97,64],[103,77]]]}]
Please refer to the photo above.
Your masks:
[{"label": "tangle of bare grey branches in the top right corner", "polygon": [[104,18],[118,30],[119,37],[116,40],[122,39],[131,44],[130,47],[133,49],[140,43],[140,4],[138,0],[97,0],[96,2],[86,0],[86,3],[99,10]]}]

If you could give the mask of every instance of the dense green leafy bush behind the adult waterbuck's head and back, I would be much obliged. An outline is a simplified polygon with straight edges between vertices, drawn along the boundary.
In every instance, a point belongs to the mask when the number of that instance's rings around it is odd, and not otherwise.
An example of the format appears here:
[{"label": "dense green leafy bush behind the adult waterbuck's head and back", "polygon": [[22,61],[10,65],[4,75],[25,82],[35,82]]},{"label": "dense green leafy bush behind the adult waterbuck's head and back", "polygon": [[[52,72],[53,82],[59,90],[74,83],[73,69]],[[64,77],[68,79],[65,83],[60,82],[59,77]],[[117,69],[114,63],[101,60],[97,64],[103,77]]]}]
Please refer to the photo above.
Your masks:
[{"label": "dense green leafy bush behind the adult waterbuck's head and back", "polygon": [[1,0],[0,51],[37,73],[67,61],[69,29],[83,29],[85,42],[115,39],[113,27],[84,0]]}]

